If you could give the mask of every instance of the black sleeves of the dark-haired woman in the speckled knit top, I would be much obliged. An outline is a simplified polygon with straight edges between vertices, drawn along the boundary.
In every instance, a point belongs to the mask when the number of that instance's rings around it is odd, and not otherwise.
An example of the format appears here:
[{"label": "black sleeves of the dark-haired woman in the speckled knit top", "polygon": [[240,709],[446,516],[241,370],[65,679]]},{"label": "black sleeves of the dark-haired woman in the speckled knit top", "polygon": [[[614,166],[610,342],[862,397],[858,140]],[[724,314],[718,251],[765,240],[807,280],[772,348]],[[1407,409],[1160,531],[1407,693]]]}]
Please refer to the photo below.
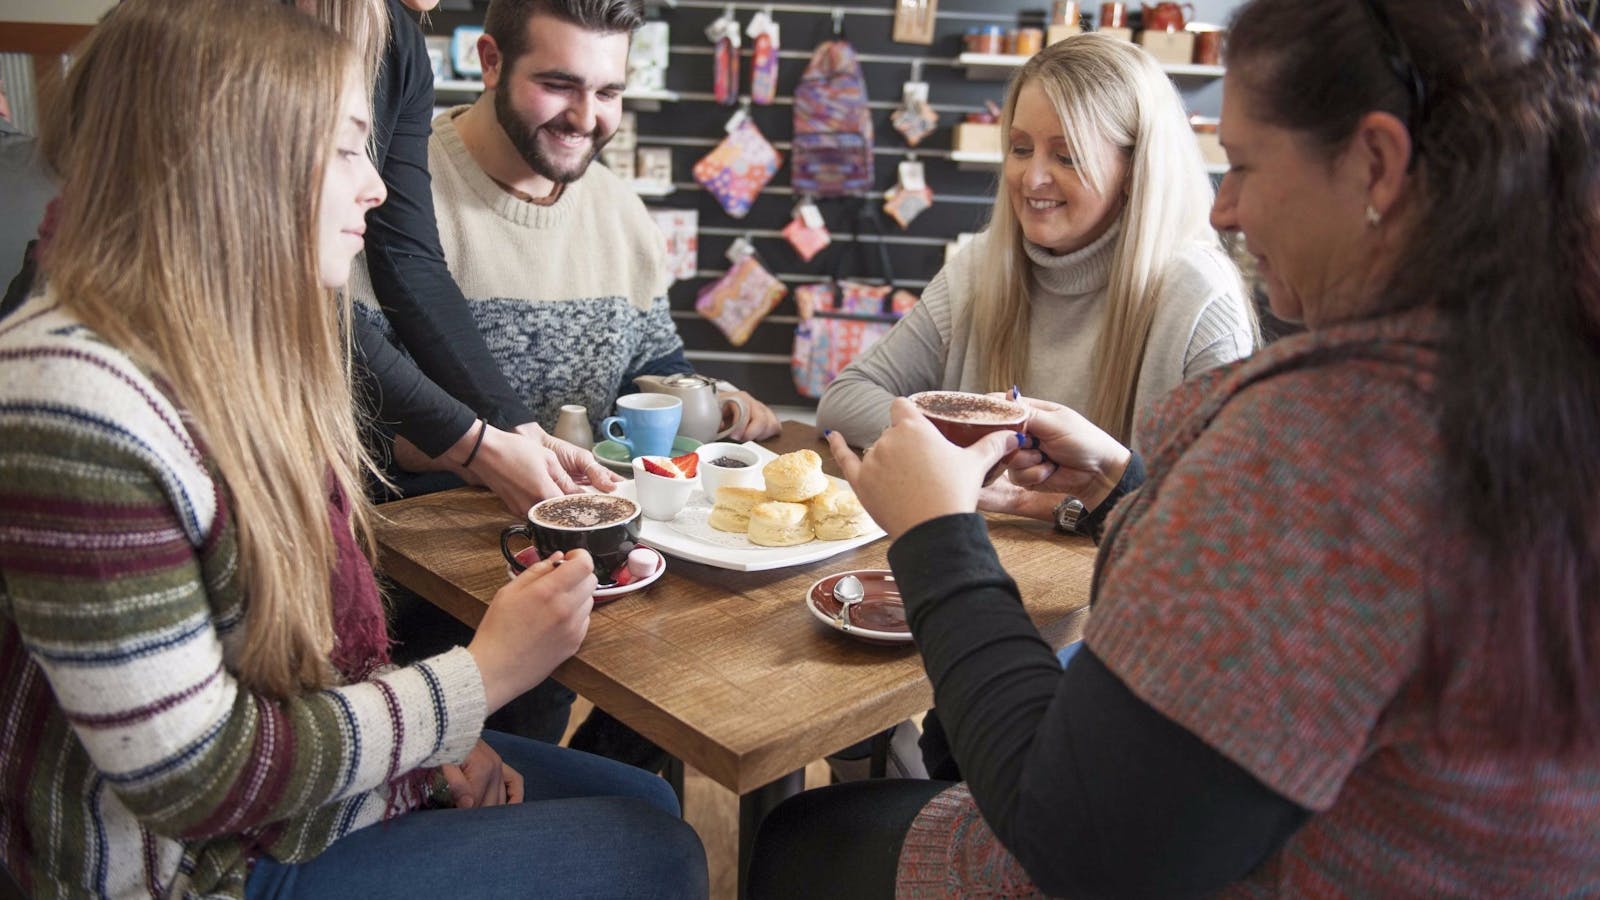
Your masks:
[{"label": "black sleeves of the dark-haired woman in the speckled knit top", "polygon": [[981,516],[923,522],[888,556],[973,799],[1046,894],[1211,892],[1310,815],[1139,700],[1091,649],[1062,669]]}]

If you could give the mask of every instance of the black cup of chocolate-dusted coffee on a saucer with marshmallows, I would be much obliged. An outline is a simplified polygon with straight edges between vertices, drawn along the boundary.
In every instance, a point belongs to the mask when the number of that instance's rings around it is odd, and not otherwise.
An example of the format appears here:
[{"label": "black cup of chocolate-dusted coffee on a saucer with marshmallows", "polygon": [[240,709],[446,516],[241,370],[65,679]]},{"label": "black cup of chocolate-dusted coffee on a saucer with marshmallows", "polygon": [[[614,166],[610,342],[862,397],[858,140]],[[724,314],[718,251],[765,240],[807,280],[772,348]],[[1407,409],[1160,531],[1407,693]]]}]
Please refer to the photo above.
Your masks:
[{"label": "black cup of chocolate-dusted coffee on a saucer with marshmallows", "polygon": [[626,496],[573,493],[552,496],[528,509],[528,520],[501,532],[501,554],[512,572],[528,569],[517,560],[510,538],[520,535],[539,548],[539,556],[586,549],[595,559],[595,578],[613,581],[611,573],[627,562],[638,546],[638,504]]}]

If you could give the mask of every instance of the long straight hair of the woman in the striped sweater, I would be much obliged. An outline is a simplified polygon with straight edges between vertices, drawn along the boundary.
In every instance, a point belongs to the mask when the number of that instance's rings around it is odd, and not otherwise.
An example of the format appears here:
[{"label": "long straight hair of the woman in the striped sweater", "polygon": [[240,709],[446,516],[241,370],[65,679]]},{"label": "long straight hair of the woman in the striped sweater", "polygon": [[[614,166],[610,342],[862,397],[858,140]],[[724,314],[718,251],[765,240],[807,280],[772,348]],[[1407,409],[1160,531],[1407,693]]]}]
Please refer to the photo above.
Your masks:
[{"label": "long straight hair of the woman in the striped sweater", "polygon": [[[270,0],[126,0],[50,104],[53,293],[171,392],[238,535],[238,676],[333,682],[331,487],[371,546],[347,301],[317,274],[350,46]],[[331,479],[331,484],[330,484]]]}]

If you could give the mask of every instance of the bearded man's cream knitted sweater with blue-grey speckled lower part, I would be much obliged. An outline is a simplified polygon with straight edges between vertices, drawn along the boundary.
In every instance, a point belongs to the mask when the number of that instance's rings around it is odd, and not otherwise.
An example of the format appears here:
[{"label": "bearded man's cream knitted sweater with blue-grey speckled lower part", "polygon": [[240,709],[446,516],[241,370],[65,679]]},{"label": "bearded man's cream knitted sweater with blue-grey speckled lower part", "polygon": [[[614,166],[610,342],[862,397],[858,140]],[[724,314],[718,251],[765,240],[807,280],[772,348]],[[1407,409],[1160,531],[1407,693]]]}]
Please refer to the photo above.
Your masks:
[{"label": "bearded man's cream knitted sweater with blue-grey speckled lower part", "polygon": [[[454,117],[434,120],[427,165],[450,274],[494,362],[546,431],[565,404],[590,431],[638,375],[690,372],[667,306],[666,242],[627,183],[590,165],[550,205],[522,200],[472,159]],[[365,266],[350,296],[390,328]]]}]

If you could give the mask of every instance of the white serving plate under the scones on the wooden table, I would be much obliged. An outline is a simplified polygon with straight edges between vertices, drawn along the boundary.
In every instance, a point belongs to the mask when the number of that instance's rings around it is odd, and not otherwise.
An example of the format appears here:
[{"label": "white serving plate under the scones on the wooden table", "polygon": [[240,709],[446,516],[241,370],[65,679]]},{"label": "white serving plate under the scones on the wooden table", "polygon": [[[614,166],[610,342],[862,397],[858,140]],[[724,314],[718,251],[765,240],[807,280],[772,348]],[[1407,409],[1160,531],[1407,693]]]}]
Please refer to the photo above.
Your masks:
[{"label": "white serving plate under the scones on the wooden table", "polygon": [[[744,447],[749,447],[760,456],[758,464],[762,466],[778,458],[776,453],[755,442],[746,442]],[[834,479],[834,482],[846,490],[850,487],[843,479]],[[634,482],[627,480],[618,485],[616,495],[637,501],[635,490]],[[848,541],[810,541],[795,546],[768,548],[752,544],[750,538],[744,535],[718,532],[706,524],[707,517],[710,517],[710,498],[706,496],[706,492],[696,488],[690,495],[690,501],[683,506],[683,511],[674,519],[640,519],[638,540],[667,556],[690,562],[731,569],[734,572],[762,572],[786,565],[805,565],[806,562],[838,556],[846,549],[869,544],[885,535],[883,528],[874,525],[866,535]]]}]

